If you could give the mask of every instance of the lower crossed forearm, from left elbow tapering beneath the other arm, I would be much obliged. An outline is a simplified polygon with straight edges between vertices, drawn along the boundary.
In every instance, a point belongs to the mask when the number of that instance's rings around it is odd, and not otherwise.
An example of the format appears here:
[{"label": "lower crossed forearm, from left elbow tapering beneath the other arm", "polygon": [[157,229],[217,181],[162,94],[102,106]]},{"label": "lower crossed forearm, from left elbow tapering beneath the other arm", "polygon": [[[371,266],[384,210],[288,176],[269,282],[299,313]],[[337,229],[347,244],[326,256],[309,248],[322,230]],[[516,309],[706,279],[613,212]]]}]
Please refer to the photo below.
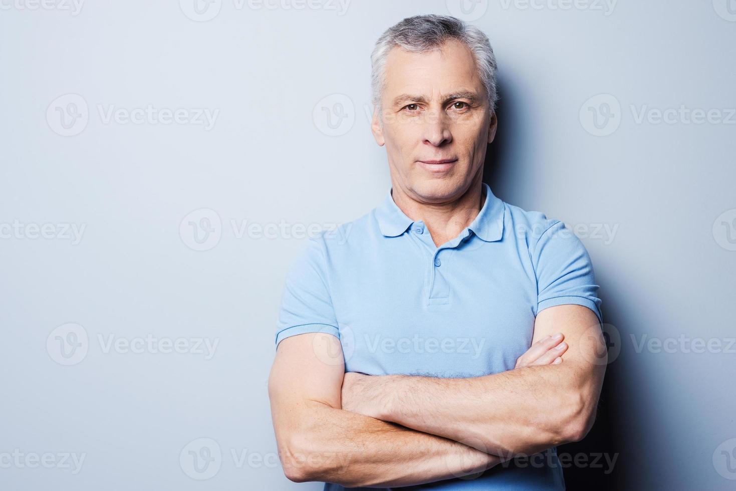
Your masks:
[{"label": "lower crossed forearm, from left elbow tapering beneath the other arm", "polygon": [[277,424],[280,456],[293,481],[401,487],[465,476],[500,462],[451,439],[311,401]]}]

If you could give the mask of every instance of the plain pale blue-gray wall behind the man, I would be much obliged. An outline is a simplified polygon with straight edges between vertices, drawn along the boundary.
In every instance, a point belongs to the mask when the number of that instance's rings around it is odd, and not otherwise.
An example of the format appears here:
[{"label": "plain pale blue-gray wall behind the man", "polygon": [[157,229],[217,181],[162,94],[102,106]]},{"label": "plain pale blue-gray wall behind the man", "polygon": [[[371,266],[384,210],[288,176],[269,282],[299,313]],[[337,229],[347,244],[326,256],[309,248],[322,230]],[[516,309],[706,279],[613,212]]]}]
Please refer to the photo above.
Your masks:
[{"label": "plain pale blue-gray wall behind the man", "polygon": [[3,489],[319,489],[275,456],[280,289],[388,189],[369,52],[417,13],[489,35],[489,182],[595,265],[613,361],[562,450],[618,459],[570,489],[734,486],[735,1],[1,7]]}]

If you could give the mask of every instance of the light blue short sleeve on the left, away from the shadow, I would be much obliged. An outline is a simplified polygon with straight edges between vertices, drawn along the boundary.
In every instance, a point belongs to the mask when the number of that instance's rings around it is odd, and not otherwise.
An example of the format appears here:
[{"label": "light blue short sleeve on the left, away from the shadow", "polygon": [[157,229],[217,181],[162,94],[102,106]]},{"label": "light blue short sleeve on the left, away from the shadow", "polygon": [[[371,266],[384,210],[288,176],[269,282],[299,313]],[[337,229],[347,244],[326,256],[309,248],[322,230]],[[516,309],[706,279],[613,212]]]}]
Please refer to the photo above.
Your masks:
[{"label": "light blue short sleeve on the left, away from the shadow", "polygon": [[321,237],[308,239],[289,266],[281,294],[276,347],[297,334],[330,333],[339,337],[323,247]]}]

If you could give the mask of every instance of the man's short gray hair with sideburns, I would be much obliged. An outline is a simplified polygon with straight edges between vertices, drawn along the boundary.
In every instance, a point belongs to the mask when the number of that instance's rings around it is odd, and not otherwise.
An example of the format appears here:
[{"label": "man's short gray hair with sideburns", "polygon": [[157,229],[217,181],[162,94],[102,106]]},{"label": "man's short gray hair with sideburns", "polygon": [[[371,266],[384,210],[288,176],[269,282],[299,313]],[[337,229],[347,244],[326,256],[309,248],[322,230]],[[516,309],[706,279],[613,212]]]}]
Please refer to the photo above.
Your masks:
[{"label": "man's short gray hair with sideburns", "polygon": [[373,105],[381,111],[381,91],[386,83],[386,57],[394,47],[423,53],[438,49],[450,39],[459,40],[473,52],[478,75],[486,87],[489,109],[493,113],[498,101],[498,86],[496,59],[491,43],[481,29],[449,15],[415,15],[383,32],[370,57]]}]

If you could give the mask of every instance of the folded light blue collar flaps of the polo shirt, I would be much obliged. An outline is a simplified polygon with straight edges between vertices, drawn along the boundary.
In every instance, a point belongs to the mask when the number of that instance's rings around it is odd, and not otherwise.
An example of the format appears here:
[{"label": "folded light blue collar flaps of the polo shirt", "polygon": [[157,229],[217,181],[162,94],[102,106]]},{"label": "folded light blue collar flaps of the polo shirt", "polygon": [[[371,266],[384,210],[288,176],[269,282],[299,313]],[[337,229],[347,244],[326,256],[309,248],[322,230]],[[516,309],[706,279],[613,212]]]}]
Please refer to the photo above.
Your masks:
[{"label": "folded light blue collar flaps of the polo shirt", "polygon": [[[503,215],[506,207],[503,205],[503,201],[494,196],[490,186],[486,183],[483,183],[483,186],[486,190],[486,201],[483,203],[481,211],[478,212],[478,216],[475,216],[468,228],[486,242],[498,241],[503,236]],[[406,216],[394,202],[391,191],[389,189],[386,198],[375,209],[378,227],[386,237],[400,236],[406,232],[409,225],[414,223],[414,220]]]}]

